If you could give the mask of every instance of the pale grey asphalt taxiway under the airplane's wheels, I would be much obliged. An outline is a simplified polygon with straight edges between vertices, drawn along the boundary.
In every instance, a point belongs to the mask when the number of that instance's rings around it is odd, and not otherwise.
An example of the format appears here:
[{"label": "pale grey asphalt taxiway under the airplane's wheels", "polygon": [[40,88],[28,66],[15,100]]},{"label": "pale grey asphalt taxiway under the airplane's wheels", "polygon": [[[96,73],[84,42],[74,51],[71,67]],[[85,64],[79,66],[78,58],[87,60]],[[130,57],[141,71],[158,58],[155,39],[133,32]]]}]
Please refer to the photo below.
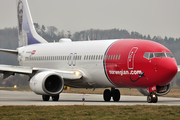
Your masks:
[{"label": "pale grey asphalt taxiway under the airplane's wheels", "polygon": [[147,103],[146,96],[122,95],[119,102],[104,102],[100,94],[61,93],[59,101],[43,101],[41,95],[27,91],[0,90],[0,106],[55,106],[55,105],[169,105],[180,106],[180,98],[158,97],[157,103]]}]

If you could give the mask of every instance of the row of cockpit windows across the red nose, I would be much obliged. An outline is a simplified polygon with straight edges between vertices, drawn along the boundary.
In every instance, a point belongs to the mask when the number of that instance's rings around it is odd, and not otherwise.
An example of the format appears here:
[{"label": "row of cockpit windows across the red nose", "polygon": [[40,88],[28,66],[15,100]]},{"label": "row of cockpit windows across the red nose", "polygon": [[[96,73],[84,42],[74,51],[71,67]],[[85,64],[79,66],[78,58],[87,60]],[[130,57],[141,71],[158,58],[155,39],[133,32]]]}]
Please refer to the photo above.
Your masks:
[{"label": "row of cockpit windows across the red nose", "polygon": [[157,57],[174,57],[172,53],[165,53],[165,52],[158,52],[158,53],[150,53],[150,52],[146,52],[144,53],[144,57],[147,59],[151,59],[151,58],[157,58]]}]

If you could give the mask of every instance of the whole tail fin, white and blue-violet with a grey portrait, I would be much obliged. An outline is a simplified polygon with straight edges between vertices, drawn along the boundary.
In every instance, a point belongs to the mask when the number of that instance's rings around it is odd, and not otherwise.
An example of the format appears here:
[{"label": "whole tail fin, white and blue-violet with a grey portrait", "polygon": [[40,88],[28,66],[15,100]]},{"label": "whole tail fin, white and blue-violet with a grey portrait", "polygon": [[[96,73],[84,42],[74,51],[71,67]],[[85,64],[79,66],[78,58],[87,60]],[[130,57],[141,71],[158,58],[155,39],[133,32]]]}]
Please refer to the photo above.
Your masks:
[{"label": "whole tail fin, white and blue-violet with a grey portrait", "polygon": [[27,0],[16,1],[19,47],[30,44],[47,43],[46,40],[37,34],[34,28]]}]

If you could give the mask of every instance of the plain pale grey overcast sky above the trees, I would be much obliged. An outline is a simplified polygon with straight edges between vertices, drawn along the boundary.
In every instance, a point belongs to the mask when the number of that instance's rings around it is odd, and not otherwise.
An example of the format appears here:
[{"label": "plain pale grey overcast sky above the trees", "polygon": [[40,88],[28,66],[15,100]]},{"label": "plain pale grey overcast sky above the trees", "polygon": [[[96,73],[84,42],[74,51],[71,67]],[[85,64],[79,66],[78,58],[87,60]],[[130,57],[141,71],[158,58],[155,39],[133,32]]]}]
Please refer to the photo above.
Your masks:
[{"label": "plain pale grey overcast sky above the trees", "polygon": [[[180,37],[180,0],[28,0],[34,23],[60,31],[126,29]],[[16,0],[0,0],[0,29],[17,26]]]}]

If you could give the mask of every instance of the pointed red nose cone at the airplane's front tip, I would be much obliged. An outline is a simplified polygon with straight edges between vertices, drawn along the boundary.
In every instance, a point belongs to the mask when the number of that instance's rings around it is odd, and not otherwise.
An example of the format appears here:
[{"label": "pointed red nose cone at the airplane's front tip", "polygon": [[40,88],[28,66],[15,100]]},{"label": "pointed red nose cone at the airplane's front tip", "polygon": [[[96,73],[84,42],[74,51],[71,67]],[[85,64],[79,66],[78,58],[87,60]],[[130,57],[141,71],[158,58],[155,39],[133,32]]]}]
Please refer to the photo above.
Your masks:
[{"label": "pointed red nose cone at the airplane's front tip", "polygon": [[159,63],[158,71],[160,72],[160,85],[167,85],[172,81],[178,71],[176,60],[174,58],[164,58]]}]

